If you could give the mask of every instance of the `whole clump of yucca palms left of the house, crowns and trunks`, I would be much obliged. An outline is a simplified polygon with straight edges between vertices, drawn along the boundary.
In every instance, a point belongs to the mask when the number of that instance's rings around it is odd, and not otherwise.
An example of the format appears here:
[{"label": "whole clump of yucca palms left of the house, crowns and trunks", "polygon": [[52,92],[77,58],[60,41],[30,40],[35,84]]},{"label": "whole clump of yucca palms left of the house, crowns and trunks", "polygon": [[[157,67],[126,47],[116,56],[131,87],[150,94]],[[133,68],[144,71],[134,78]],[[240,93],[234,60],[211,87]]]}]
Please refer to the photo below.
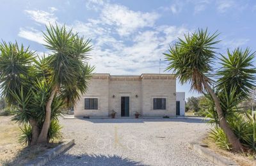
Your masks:
[{"label": "whole clump of yucca palms left of the house, crowns and trunks", "polygon": [[90,40],[57,25],[47,27],[44,37],[52,53],[37,59],[23,45],[0,44],[1,95],[17,107],[13,119],[31,125],[31,145],[49,140],[51,120],[58,120],[64,104],[76,104],[93,72],[86,62]]}]

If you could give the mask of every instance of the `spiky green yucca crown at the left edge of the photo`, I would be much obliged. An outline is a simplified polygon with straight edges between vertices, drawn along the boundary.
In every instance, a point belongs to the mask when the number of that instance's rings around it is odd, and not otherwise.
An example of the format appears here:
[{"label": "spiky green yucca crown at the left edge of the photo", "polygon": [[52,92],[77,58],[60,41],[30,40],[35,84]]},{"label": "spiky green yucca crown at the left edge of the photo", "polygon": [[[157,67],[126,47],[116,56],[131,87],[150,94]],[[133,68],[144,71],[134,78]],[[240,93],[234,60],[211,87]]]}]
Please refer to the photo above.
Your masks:
[{"label": "spiky green yucca crown at the left edge of the photo", "polygon": [[10,91],[19,93],[20,87],[29,91],[29,73],[32,70],[32,62],[35,59],[34,52],[17,43],[0,44],[0,89],[2,96],[9,103],[15,103]]}]

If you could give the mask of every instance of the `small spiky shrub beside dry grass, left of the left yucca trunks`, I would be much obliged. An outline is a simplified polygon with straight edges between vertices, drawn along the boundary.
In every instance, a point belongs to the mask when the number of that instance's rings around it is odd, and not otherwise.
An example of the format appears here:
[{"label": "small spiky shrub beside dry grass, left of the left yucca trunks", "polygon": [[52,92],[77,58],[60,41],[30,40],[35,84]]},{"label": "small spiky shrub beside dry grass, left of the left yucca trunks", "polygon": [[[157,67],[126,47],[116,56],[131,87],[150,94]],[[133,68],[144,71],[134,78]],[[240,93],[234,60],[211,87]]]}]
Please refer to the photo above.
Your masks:
[{"label": "small spiky shrub beside dry grass, left of the left yucca trunks", "polygon": [[22,127],[20,127],[21,130],[21,135],[19,137],[19,142],[22,145],[30,145],[31,140],[32,140],[32,128],[30,126],[30,124],[28,123],[24,123],[24,125]]}]

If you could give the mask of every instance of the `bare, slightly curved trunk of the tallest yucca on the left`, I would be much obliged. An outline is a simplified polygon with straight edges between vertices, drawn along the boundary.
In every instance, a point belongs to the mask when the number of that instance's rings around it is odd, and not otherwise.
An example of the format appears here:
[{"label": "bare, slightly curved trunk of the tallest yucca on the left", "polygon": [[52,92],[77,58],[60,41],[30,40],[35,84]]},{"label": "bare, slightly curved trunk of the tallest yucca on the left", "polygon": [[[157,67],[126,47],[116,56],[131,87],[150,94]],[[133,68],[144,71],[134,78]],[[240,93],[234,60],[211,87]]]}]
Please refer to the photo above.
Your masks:
[{"label": "bare, slightly curved trunk of the tallest yucca on the left", "polygon": [[48,130],[49,130],[49,127],[51,124],[51,105],[52,105],[52,100],[54,98],[56,91],[57,91],[57,86],[55,86],[52,89],[51,95],[48,99],[48,102],[46,103],[45,120],[44,120],[44,124],[43,124],[42,130],[41,130],[41,133],[37,140],[38,143],[43,143],[43,144],[47,143],[47,134],[48,134]]}]

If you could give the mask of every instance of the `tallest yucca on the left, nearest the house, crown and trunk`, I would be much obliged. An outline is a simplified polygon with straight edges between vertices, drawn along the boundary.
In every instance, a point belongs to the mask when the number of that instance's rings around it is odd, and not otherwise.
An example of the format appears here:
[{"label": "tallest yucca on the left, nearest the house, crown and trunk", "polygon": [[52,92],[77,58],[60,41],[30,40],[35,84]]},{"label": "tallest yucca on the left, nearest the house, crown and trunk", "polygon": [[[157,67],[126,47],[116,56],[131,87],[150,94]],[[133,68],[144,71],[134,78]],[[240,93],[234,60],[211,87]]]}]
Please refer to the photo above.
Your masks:
[{"label": "tallest yucca on the left, nearest the house, crown and trunk", "polygon": [[51,105],[56,93],[60,93],[68,105],[76,103],[79,93],[84,93],[88,86],[93,67],[86,63],[89,59],[89,52],[92,50],[90,40],[84,40],[67,31],[65,26],[46,27],[44,39],[47,42],[45,47],[52,51],[46,58],[48,84],[51,85],[51,95],[45,108],[45,120],[38,142],[47,142],[47,133],[51,124]]}]

